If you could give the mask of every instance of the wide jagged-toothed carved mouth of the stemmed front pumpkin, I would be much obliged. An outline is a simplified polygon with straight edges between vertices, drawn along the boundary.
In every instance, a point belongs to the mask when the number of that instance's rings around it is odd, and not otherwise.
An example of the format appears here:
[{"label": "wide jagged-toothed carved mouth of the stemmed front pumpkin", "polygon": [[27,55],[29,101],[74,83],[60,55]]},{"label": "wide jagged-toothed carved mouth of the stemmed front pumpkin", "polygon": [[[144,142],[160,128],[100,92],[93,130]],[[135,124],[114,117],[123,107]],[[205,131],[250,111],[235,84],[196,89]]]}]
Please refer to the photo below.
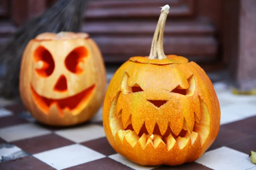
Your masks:
[{"label": "wide jagged-toothed carved mouth of the stemmed front pumpkin", "polygon": [[[178,145],[180,150],[183,149],[187,144],[191,142],[191,145],[195,142],[200,142],[201,146],[204,145],[207,137],[209,136],[210,130],[210,117],[207,106],[200,99],[200,109],[201,109],[201,120],[199,122],[197,116],[195,115],[195,125],[192,131],[189,130],[189,127],[186,123],[186,120],[183,121],[183,128],[178,135],[172,130],[171,125],[169,124],[166,132],[164,134],[160,133],[160,129],[156,124],[154,127],[153,133],[149,134],[148,130],[145,127],[145,123],[140,129],[139,133],[134,131],[131,119],[128,120],[126,125],[122,123],[122,111],[116,113],[116,104],[119,94],[116,95],[115,99],[111,103],[111,108],[109,112],[109,123],[113,136],[118,136],[121,141],[125,138],[126,141],[134,147],[137,142],[140,143],[140,146],[144,150],[148,144],[152,144],[154,148],[157,148],[158,145],[162,142],[166,145],[168,150],[171,150],[175,143]],[[171,113],[170,113],[171,114]],[[131,115],[132,116],[132,115]],[[171,115],[170,115],[171,116]]]}]

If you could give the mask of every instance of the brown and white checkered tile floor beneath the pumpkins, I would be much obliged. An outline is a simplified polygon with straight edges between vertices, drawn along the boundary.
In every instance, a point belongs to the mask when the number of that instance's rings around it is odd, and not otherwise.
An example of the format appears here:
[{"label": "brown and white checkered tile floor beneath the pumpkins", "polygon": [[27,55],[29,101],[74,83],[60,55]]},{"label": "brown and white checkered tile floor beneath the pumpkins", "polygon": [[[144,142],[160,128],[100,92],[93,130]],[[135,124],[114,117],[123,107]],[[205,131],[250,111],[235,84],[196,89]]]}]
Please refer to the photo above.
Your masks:
[{"label": "brown and white checkered tile floor beneath the pumpkins", "polygon": [[177,167],[140,166],[116,153],[102,127],[102,110],[87,123],[41,125],[21,104],[0,108],[0,170],[256,170],[256,96],[235,96],[215,83],[221,104],[217,139],[197,161]]}]

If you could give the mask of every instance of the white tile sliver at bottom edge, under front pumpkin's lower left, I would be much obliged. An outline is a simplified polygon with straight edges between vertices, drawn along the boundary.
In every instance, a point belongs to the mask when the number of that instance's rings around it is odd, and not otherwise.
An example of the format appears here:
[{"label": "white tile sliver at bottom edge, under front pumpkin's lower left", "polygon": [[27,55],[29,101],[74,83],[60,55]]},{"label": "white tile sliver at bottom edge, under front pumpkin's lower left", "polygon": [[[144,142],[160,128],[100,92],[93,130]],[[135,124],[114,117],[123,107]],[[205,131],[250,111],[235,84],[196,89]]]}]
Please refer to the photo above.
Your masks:
[{"label": "white tile sliver at bottom edge, under front pumpkin's lower left", "polygon": [[156,168],[156,167],[153,167],[153,166],[142,166],[140,164],[136,164],[132,161],[129,161],[125,157],[119,155],[118,153],[116,153],[114,155],[111,155],[111,156],[108,156],[108,157],[115,160],[115,161],[120,162],[121,164],[124,164],[128,167],[131,167],[135,170],[152,170],[152,169]]}]

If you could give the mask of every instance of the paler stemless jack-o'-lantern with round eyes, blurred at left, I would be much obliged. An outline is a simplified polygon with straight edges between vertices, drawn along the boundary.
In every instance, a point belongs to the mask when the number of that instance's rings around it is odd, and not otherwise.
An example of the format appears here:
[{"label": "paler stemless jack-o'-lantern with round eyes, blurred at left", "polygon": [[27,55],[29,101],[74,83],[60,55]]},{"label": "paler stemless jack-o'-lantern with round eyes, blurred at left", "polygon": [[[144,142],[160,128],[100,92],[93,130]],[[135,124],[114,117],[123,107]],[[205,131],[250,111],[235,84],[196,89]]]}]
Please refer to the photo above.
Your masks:
[{"label": "paler stemless jack-o'-lantern with round eyes, blurred at left", "polygon": [[30,40],[20,68],[20,97],[39,122],[68,126],[89,120],[106,88],[105,65],[85,33],[43,33]]}]

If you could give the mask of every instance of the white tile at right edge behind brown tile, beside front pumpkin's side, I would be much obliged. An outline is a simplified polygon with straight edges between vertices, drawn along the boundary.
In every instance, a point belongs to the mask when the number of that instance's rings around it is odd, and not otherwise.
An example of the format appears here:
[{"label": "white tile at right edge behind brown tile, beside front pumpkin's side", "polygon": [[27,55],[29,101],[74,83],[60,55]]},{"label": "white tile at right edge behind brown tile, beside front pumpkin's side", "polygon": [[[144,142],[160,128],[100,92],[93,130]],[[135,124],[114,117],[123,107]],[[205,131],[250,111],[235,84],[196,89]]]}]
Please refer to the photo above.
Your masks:
[{"label": "white tile at right edge behind brown tile, beside front pumpkin's side", "polygon": [[256,116],[256,105],[250,103],[229,104],[221,107],[221,125]]}]

